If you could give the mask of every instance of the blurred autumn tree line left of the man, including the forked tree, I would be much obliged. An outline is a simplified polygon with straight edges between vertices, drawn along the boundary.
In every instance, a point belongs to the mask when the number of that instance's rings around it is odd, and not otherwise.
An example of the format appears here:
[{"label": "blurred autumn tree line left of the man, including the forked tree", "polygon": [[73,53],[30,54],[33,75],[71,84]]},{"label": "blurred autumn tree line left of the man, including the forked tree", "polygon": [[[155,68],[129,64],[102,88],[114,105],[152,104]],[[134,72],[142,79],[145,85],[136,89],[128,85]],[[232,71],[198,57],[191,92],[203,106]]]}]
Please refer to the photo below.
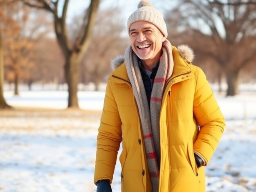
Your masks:
[{"label": "blurred autumn tree line left of the man, including the forked tree", "polygon": [[[109,63],[114,54],[124,52],[124,42],[127,39],[120,36],[124,25],[121,20],[116,19],[117,14],[120,14],[116,8],[97,13],[99,0],[92,0],[85,14],[73,18],[72,23],[68,25],[66,18],[69,0],[65,0],[61,7],[61,14],[58,12],[58,3],[17,0],[2,4],[0,8],[4,8],[1,9],[5,13],[4,19],[8,20],[4,23],[6,30],[3,33],[3,46],[6,48],[3,57],[5,80],[15,84],[16,95],[19,82],[27,83],[29,87],[34,82],[67,83],[68,107],[78,107],[78,83],[94,82],[97,89],[101,79],[111,71]],[[30,12],[27,13],[27,10]],[[44,23],[39,22],[39,18],[33,20],[38,14],[46,18],[42,20]],[[25,21],[20,22],[23,18]],[[27,29],[26,26],[34,26],[35,29]],[[50,30],[42,29],[42,26],[49,27]],[[38,31],[37,35],[29,34],[35,31]],[[43,35],[39,35],[39,31],[43,31]],[[49,38],[49,34],[53,32],[56,38]],[[16,34],[17,38],[13,38],[13,34]],[[26,47],[21,47],[24,45],[21,39],[26,40]],[[94,42],[90,44],[91,40]],[[12,41],[15,41],[17,46],[14,46]],[[121,43],[117,43],[118,41]],[[111,49],[114,51],[110,51]],[[25,55],[22,51],[29,54]],[[88,53],[85,56],[86,52]]]}]

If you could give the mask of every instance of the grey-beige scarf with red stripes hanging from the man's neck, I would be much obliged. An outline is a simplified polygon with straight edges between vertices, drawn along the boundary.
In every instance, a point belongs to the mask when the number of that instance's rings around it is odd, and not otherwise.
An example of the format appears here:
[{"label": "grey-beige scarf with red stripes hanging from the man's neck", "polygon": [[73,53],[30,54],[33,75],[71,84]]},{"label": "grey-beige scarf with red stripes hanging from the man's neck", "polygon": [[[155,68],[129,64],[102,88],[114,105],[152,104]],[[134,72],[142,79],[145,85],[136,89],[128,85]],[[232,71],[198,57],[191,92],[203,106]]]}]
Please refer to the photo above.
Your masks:
[{"label": "grey-beige scarf with red stripes hanging from the man's neck", "polygon": [[148,171],[153,186],[153,192],[159,188],[160,142],[159,142],[159,113],[162,104],[164,86],[173,73],[172,46],[168,40],[162,45],[162,56],[154,79],[150,97],[150,110],[146,91],[139,69],[139,58],[132,51],[131,46],[126,49],[125,62],[128,77],[132,84],[140,121],[143,131]]}]

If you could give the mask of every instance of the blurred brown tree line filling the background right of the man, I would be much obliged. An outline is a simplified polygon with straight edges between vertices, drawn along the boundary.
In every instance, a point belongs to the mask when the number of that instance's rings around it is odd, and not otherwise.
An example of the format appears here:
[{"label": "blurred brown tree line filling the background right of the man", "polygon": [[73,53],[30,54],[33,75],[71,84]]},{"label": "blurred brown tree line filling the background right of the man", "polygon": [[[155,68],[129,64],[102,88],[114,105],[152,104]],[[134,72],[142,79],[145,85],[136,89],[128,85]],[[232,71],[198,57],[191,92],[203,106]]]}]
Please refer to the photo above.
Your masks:
[{"label": "blurred brown tree line filling the background right of the man", "polygon": [[166,20],[171,41],[189,44],[195,64],[217,77],[214,80],[221,83],[225,77],[228,96],[239,93],[239,74],[255,79],[255,1],[180,0]]}]

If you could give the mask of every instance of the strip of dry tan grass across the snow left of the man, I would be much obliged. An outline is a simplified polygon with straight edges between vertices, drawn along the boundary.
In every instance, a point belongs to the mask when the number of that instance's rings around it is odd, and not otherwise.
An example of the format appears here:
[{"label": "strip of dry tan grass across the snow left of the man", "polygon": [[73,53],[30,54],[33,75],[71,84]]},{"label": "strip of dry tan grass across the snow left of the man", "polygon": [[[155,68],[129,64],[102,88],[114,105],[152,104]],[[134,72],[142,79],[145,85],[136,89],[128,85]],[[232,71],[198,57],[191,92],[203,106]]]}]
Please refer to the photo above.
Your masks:
[{"label": "strip of dry tan grass across the snow left of the man", "polygon": [[99,124],[101,111],[13,108],[0,110],[0,130],[88,129]]}]

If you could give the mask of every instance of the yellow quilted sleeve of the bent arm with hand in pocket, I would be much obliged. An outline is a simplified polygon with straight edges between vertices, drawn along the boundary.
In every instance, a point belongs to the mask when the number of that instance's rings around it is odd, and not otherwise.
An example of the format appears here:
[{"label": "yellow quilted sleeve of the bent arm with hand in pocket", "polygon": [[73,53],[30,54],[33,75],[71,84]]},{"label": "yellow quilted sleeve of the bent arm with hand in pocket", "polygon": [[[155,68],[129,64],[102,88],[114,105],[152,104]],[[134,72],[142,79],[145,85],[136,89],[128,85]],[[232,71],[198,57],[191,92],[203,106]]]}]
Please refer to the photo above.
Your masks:
[{"label": "yellow quilted sleeve of the bent arm with hand in pocket", "polygon": [[193,144],[194,152],[209,163],[224,131],[225,119],[212,93],[203,71],[195,71],[195,97],[193,113],[200,131]]}]

